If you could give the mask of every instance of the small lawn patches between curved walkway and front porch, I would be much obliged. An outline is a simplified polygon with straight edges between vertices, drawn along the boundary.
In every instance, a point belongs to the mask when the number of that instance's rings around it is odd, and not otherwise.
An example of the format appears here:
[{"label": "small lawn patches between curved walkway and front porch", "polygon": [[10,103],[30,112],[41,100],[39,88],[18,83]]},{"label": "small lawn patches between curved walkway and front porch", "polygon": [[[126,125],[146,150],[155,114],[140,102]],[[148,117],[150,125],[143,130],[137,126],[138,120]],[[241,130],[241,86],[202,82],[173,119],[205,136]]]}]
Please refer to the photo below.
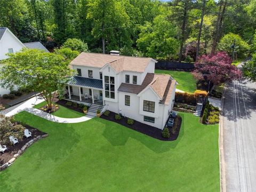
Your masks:
[{"label": "small lawn patches between curved walkway and front porch", "polygon": [[[45,105],[46,105],[46,101],[37,104],[36,106],[34,106],[34,108],[39,109]],[[63,107],[60,105],[58,105],[58,106],[60,107],[59,110],[52,113],[52,115],[55,115],[57,117],[63,117],[63,118],[78,118],[78,117],[85,116],[85,114],[79,113],[78,111],[70,110],[67,107]]]}]

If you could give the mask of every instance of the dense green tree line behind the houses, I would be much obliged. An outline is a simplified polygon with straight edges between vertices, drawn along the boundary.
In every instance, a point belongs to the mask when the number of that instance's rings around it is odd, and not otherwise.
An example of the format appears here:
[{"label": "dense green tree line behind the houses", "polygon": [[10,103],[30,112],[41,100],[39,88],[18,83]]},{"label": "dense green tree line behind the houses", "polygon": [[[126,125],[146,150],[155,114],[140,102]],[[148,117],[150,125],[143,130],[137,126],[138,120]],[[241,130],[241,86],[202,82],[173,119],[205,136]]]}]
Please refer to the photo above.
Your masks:
[{"label": "dense green tree line behind the houses", "polygon": [[[255,51],[255,0],[2,0],[0,26],[53,50],[68,38],[91,52],[196,61]],[[235,47],[231,47],[234,44]]]}]

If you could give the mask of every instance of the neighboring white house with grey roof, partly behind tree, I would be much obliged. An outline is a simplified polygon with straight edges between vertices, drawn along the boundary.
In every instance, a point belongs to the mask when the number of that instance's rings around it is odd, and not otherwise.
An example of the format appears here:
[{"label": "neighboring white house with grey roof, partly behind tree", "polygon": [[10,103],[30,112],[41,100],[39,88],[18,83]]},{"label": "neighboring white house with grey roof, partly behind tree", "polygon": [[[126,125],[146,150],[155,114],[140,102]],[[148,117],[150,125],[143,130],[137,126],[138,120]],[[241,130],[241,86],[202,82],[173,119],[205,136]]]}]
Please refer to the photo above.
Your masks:
[{"label": "neighboring white house with grey roof, partly behind tree", "polygon": [[[42,49],[49,52],[40,42],[22,43],[8,28],[0,27],[0,67],[2,67],[1,60],[8,58],[6,53],[15,53],[24,47],[29,49]],[[15,87],[15,89],[17,89],[17,87]],[[3,89],[3,87],[0,86],[0,94],[3,95],[7,93],[10,93],[10,90]]]}]

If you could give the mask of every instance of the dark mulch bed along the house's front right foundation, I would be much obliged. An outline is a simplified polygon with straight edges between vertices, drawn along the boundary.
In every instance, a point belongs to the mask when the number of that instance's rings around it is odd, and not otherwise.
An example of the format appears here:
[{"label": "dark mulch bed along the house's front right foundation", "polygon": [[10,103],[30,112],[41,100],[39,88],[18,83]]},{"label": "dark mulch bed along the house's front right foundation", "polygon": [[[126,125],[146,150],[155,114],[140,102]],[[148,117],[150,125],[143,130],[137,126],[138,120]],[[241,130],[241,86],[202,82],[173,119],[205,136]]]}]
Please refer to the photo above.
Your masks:
[{"label": "dark mulch bed along the house's front right foundation", "polygon": [[130,125],[130,124],[127,124],[127,117],[122,117],[122,119],[116,120],[115,115],[116,115],[116,113],[110,111],[109,116],[101,115],[100,118],[107,119],[109,121],[113,121],[115,123],[126,126],[126,127],[130,128],[132,130],[135,130],[135,131],[138,131],[140,133],[146,134],[149,137],[153,137],[155,139],[162,140],[162,141],[174,141],[179,136],[180,127],[181,127],[181,117],[179,117],[179,116],[177,116],[175,118],[175,121],[174,121],[174,125],[175,125],[175,123],[177,124],[177,129],[176,129],[175,133],[173,134],[171,132],[171,128],[169,128],[169,131],[171,133],[171,137],[170,138],[164,138],[162,136],[162,130],[161,129],[157,129],[156,127],[153,127],[153,126],[150,126],[150,125],[147,125],[147,124],[144,124],[144,123],[140,123],[140,122],[135,121],[135,120],[134,120],[134,124]]}]

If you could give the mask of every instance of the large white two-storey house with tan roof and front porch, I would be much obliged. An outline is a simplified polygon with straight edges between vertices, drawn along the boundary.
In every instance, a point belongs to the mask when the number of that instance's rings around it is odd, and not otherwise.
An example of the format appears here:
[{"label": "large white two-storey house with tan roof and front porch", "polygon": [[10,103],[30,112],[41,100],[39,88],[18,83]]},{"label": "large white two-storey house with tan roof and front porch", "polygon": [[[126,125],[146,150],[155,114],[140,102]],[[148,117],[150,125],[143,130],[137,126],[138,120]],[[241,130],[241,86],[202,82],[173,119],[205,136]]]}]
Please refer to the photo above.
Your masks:
[{"label": "large white two-storey house with tan roof and front porch", "polygon": [[101,104],[163,129],[174,104],[176,81],[170,75],[154,74],[156,62],[151,58],[83,52],[70,63],[77,74],[67,86],[69,100]]}]

